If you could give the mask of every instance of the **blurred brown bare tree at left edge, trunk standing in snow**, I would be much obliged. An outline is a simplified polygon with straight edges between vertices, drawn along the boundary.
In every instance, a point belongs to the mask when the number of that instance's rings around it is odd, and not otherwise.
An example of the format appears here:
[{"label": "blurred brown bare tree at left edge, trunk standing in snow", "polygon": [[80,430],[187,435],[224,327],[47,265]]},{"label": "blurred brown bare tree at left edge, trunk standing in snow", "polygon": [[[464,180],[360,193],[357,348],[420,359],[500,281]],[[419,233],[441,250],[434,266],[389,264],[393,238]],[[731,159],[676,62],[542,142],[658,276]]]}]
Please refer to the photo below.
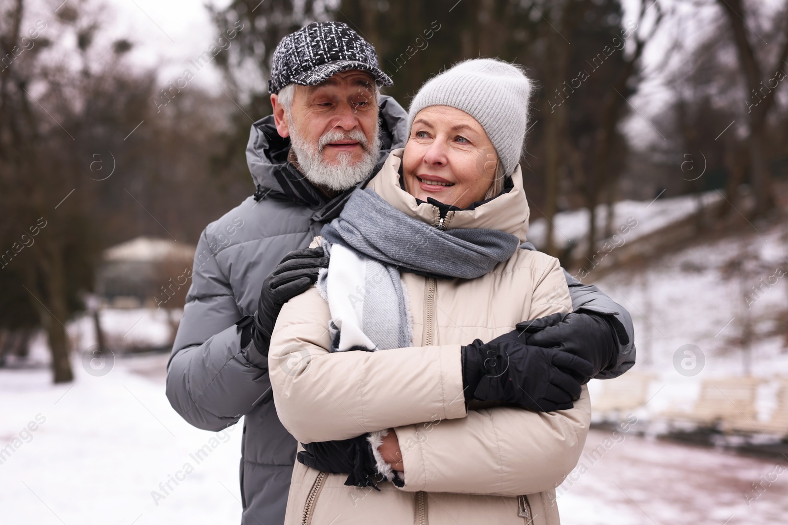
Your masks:
[{"label": "blurred brown bare tree at left edge, trunk standing in snow", "polygon": [[57,18],[32,21],[24,17],[24,7],[24,0],[17,0],[10,8],[0,36],[7,58],[0,82],[0,204],[9,216],[0,228],[3,248],[9,247],[0,272],[15,277],[17,302],[7,308],[24,310],[28,303],[37,312],[54,382],[64,383],[73,379],[66,324],[84,308],[80,294],[91,289],[100,250],[91,216],[95,186],[84,173],[91,150],[100,145],[96,128],[106,129],[111,119],[97,125],[92,112],[100,104],[92,96],[113,86],[104,72],[87,67],[106,68],[106,58],[69,68],[46,56],[53,39],[70,37],[86,58],[98,28],[95,13],[62,6]]}]

